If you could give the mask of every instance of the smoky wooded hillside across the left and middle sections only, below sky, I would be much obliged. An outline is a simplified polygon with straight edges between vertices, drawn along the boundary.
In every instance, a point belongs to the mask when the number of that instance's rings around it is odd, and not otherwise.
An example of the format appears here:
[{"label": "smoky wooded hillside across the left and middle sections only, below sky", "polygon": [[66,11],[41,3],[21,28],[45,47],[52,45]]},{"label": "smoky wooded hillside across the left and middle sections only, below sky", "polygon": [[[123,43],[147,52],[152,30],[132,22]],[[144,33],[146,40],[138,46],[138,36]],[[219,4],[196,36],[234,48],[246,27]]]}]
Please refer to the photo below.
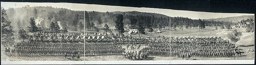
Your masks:
[{"label": "smoky wooded hillside across the left and middle sections only, below sky", "polygon": [[[84,11],[73,11],[65,8],[53,8],[51,6],[25,6],[21,8],[4,8],[6,10],[6,19],[12,21],[12,25],[24,26],[29,25],[29,18],[34,17],[37,24],[45,21],[46,27],[51,22],[58,22],[61,26],[76,27],[79,23],[84,24]],[[95,24],[97,27],[108,24],[110,28],[114,28],[116,16],[123,14],[124,25],[135,25],[137,21],[143,22],[143,25],[169,26],[169,17],[158,13],[148,13],[139,11],[115,11],[115,12],[99,12],[87,11],[89,23]],[[86,19],[87,20],[87,19]],[[19,24],[20,23],[20,24]]]}]

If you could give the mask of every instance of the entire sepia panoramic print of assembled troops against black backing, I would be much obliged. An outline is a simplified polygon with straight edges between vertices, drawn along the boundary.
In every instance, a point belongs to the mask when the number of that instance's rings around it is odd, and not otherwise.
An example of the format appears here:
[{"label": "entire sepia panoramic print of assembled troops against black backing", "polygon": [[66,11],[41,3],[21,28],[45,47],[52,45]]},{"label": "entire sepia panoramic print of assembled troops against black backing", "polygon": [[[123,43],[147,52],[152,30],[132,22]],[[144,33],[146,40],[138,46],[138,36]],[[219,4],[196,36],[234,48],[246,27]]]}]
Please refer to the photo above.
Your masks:
[{"label": "entire sepia panoramic print of assembled troops against black backing", "polygon": [[255,60],[255,14],[88,2],[1,2],[1,64]]}]

